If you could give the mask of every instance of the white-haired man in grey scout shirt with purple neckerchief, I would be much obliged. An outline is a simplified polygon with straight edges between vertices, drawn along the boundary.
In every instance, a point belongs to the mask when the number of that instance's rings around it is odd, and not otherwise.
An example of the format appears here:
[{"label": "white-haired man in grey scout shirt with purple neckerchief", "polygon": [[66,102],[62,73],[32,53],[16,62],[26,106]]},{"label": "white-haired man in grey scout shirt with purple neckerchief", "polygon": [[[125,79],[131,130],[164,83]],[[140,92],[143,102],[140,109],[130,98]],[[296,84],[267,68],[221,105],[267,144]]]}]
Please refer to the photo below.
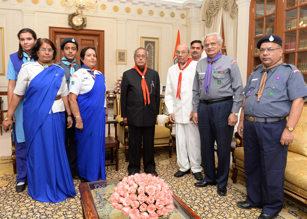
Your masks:
[{"label": "white-haired man in grey scout shirt with purple neckerchief", "polygon": [[[243,101],[243,84],[236,60],[221,53],[223,39],[217,33],[205,37],[207,58],[196,67],[193,82],[193,121],[199,127],[205,177],[196,187],[217,184],[225,196],[230,165],[230,144]],[[215,173],[214,141],[218,167]]]}]

